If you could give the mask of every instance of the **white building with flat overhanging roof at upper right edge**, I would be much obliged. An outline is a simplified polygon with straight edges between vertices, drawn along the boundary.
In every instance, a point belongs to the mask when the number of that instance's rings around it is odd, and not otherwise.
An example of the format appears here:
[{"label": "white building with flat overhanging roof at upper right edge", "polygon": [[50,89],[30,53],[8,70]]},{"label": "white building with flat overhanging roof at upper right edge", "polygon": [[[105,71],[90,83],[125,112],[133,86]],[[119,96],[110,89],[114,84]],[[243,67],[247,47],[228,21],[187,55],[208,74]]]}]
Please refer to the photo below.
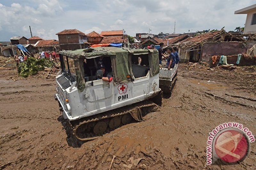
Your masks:
[{"label": "white building with flat overhanging roof at upper right edge", "polygon": [[256,33],[256,4],[237,10],[235,14],[247,14],[244,33]]}]

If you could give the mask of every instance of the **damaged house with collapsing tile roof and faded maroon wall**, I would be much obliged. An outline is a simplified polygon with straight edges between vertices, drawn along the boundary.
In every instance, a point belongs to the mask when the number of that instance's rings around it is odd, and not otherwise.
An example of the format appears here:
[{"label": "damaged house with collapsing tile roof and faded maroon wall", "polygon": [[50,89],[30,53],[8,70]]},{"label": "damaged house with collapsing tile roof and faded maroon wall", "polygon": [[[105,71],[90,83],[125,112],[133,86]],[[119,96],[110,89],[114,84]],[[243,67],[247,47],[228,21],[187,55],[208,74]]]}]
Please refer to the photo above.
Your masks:
[{"label": "damaged house with collapsing tile roof and faded maroon wall", "polygon": [[[240,44],[243,43],[243,39],[231,35],[222,29],[220,31],[200,34],[193,38],[187,38],[177,44],[169,43],[169,46],[177,46],[179,48],[181,62],[199,62],[209,61],[209,57],[217,53],[221,53],[221,55],[237,54],[237,52],[239,52],[238,54],[242,53],[242,48],[247,49],[247,47],[238,45],[240,48],[237,48],[237,51],[234,50],[234,47],[236,47],[234,44],[239,44],[239,41]],[[254,41],[248,43],[248,47],[251,47]]]}]

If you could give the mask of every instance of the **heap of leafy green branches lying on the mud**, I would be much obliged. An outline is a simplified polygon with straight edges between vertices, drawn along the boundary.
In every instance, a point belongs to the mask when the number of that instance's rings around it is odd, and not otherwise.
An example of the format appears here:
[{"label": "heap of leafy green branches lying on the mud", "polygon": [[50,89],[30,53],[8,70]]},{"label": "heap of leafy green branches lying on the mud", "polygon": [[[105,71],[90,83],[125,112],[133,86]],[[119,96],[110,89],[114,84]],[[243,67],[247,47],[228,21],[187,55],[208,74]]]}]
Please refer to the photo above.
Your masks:
[{"label": "heap of leafy green branches lying on the mud", "polygon": [[28,59],[18,65],[18,73],[21,77],[28,77],[35,75],[38,71],[43,71],[44,67],[52,67],[54,63],[47,59],[36,59],[28,57]]}]

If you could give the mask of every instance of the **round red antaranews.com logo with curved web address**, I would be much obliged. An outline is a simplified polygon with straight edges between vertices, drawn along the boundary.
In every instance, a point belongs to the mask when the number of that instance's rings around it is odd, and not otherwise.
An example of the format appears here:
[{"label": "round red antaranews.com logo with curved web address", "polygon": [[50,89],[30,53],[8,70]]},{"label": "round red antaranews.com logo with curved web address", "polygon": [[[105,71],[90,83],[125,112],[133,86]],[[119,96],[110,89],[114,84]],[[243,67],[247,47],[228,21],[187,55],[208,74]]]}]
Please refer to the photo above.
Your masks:
[{"label": "round red antaranews.com logo with curved web address", "polygon": [[236,122],[223,123],[209,133],[206,161],[210,164],[236,164],[243,161],[255,138],[248,128]]}]

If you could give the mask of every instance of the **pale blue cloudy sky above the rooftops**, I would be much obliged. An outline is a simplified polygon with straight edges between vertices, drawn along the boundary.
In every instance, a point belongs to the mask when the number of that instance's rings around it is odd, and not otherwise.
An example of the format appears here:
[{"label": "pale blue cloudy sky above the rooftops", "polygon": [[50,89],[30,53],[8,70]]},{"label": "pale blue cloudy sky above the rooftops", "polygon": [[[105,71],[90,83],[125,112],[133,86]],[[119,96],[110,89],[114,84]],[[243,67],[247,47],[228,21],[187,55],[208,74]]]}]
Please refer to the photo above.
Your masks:
[{"label": "pale blue cloudy sky above the rooftops", "polygon": [[227,31],[244,26],[246,15],[234,11],[254,4],[254,0],[1,0],[0,41],[12,36],[57,39],[64,29],[84,33],[122,30],[158,34],[196,32],[206,29]]}]

